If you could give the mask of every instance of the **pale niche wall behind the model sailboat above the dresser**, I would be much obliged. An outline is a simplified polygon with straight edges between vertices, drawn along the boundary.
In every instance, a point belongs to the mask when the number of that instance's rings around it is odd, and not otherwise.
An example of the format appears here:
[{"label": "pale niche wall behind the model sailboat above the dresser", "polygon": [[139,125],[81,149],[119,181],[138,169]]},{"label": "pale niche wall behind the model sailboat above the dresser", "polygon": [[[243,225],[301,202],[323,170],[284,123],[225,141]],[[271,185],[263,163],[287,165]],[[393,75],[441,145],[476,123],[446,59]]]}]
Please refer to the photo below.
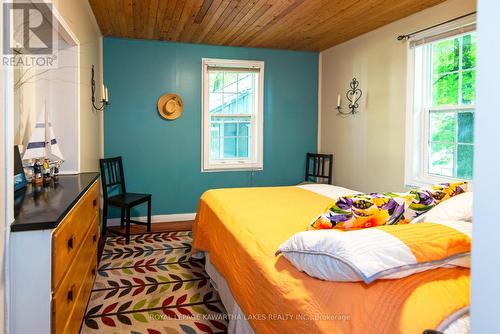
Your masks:
[{"label": "pale niche wall behind the model sailboat above the dresser", "polygon": [[40,117],[43,121],[44,109],[47,108],[64,156],[60,170],[62,173],[76,173],[80,169],[78,46],[60,42],[59,47],[57,68],[14,70],[17,83],[14,89],[14,144],[22,145],[23,154],[35,124]]}]

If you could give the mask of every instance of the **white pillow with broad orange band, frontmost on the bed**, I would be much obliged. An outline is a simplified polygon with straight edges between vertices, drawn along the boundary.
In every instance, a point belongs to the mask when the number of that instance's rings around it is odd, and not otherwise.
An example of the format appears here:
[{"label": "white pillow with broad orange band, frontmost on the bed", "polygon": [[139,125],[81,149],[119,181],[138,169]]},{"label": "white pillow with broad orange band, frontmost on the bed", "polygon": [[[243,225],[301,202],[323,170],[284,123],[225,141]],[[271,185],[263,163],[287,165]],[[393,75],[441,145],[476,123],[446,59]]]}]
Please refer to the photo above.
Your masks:
[{"label": "white pillow with broad orange band, frontmost on the bed", "polygon": [[355,231],[299,232],[276,252],[328,281],[396,279],[444,266],[469,267],[472,224],[385,225]]}]

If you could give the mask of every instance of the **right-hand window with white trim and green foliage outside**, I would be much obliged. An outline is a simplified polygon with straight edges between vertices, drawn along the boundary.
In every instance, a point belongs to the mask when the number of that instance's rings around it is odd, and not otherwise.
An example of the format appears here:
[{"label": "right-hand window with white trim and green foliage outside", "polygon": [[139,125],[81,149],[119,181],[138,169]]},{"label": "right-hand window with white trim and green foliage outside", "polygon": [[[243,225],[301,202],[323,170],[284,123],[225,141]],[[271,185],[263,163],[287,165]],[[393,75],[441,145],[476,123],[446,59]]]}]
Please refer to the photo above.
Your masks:
[{"label": "right-hand window with white trim and green foliage outside", "polygon": [[410,40],[409,60],[407,184],[472,180],[475,24]]}]

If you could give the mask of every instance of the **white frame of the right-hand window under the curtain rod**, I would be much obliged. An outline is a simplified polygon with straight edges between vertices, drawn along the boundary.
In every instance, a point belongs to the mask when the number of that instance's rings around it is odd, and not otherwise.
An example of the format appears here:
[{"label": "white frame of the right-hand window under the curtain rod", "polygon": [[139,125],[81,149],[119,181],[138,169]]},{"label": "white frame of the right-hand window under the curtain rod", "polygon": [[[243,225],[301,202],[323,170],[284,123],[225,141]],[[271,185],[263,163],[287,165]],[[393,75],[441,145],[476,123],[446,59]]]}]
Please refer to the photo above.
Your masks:
[{"label": "white frame of the right-hand window under the curtain rod", "polygon": [[[471,18],[470,22],[473,22],[474,18]],[[463,22],[461,22],[463,23]],[[458,24],[457,24],[458,27]],[[457,28],[455,27],[455,28]],[[447,26],[447,29],[450,27]],[[440,40],[445,40],[449,38],[458,38],[470,34],[473,31],[459,32],[452,36],[448,36],[443,39],[435,40],[432,43],[439,42]],[[433,30],[429,35],[439,34],[443,31]],[[462,104],[460,102],[457,105],[445,105],[445,106],[432,106],[432,55],[430,54],[431,48],[429,43],[426,48],[427,54],[424,55],[424,50],[421,54],[417,54],[416,48],[410,47],[410,42],[408,42],[407,48],[407,92],[406,92],[406,138],[405,138],[405,185],[408,187],[415,186],[426,186],[430,184],[442,183],[442,182],[457,182],[457,181],[467,181],[472,183],[472,180],[464,180],[458,177],[442,176],[437,174],[431,174],[429,172],[429,149],[430,149],[430,113],[432,111],[452,111],[455,115],[460,112],[467,112],[473,110],[476,113],[475,101],[471,104]],[[462,46],[461,46],[462,48]],[[461,49],[460,49],[461,50]],[[462,51],[460,51],[460,57]],[[421,57],[421,58],[420,58]],[[421,67],[417,67],[417,62],[421,64]],[[462,59],[460,59],[460,64]],[[474,67],[474,71],[476,67]],[[464,72],[461,66],[457,70],[457,73]],[[459,96],[461,99],[461,75],[459,74]],[[420,85],[416,85],[420,83]],[[420,98],[419,98],[420,97]],[[456,117],[456,116],[455,116]],[[456,121],[458,118],[456,117]],[[457,124],[455,125],[455,131],[457,131]],[[455,161],[454,168],[456,168],[456,146],[458,143],[458,137],[455,138]],[[471,145],[474,145],[472,143]]]}]

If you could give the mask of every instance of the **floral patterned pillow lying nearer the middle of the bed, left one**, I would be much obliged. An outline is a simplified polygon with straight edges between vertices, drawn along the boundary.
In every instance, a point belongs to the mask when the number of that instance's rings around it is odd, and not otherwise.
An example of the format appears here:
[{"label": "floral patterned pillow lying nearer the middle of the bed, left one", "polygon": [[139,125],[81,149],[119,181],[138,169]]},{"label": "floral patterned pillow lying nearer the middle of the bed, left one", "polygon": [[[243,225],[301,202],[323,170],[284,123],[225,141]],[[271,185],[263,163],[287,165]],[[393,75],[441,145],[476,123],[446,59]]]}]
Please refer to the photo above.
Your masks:
[{"label": "floral patterned pillow lying nearer the middle of the bed, left one", "polygon": [[357,194],[340,197],[328,212],[320,215],[309,230],[358,229],[381,225],[407,224],[404,213],[413,197],[406,194]]}]

